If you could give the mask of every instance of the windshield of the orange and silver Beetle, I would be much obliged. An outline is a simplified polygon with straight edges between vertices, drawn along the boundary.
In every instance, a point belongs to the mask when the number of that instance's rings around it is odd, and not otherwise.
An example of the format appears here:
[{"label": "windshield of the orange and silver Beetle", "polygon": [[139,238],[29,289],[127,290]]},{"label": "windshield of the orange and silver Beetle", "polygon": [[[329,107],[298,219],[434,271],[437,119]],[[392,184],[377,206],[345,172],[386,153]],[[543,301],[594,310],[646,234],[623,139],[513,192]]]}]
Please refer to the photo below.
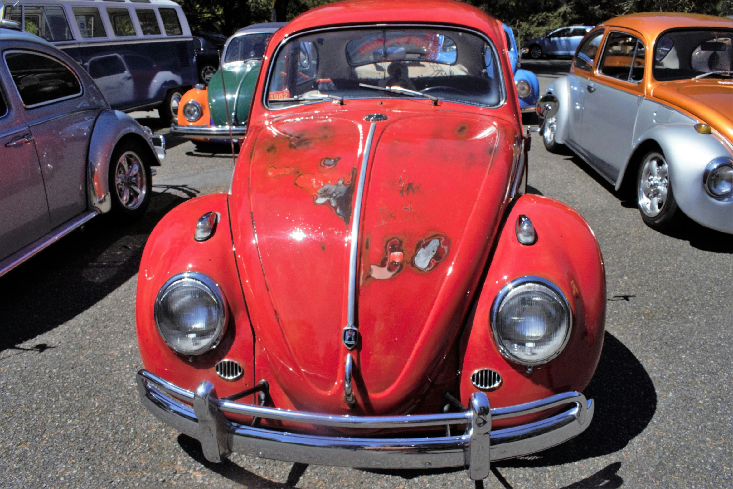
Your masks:
[{"label": "windshield of the orange and silver Beetle", "polygon": [[666,32],[655,45],[654,78],[659,81],[681,80],[713,71],[732,70],[732,39],[733,31],[685,29]]}]

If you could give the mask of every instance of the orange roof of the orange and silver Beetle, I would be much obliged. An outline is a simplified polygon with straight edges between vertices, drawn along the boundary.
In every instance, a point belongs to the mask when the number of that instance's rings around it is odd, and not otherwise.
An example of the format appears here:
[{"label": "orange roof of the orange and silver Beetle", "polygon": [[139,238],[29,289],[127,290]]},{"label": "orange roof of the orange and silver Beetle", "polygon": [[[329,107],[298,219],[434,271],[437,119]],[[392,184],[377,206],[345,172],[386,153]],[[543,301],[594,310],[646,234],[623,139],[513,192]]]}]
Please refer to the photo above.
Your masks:
[{"label": "orange roof of the orange and silver Beetle", "polygon": [[655,40],[659,34],[679,27],[721,27],[733,29],[733,20],[715,15],[688,14],[677,12],[644,12],[622,15],[605,21],[603,26],[616,26],[633,29]]}]

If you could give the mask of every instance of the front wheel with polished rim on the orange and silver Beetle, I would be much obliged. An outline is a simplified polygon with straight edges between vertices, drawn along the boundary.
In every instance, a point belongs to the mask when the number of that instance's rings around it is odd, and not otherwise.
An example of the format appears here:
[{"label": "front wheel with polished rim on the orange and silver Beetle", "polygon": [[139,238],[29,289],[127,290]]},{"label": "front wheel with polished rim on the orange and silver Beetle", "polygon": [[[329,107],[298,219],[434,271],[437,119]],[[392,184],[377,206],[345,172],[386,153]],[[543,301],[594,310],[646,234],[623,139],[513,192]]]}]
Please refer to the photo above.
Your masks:
[{"label": "front wheel with polished rim on the orange and silver Beetle", "polygon": [[641,158],[636,172],[636,205],[644,224],[657,231],[675,227],[682,216],[661,150],[647,152]]}]

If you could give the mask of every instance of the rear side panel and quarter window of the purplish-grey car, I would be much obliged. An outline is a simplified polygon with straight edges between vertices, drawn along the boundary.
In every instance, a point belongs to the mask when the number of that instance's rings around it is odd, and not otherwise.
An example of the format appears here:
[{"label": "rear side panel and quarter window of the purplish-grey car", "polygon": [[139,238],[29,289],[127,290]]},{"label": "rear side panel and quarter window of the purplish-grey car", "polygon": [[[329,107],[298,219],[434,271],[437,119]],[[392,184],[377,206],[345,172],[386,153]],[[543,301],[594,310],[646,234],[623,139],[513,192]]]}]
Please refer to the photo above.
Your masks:
[{"label": "rear side panel and quarter window of the purplish-grey car", "polygon": [[86,210],[86,150],[99,109],[74,71],[51,54],[6,51],[7,64],[34,137],[51,227]]}]

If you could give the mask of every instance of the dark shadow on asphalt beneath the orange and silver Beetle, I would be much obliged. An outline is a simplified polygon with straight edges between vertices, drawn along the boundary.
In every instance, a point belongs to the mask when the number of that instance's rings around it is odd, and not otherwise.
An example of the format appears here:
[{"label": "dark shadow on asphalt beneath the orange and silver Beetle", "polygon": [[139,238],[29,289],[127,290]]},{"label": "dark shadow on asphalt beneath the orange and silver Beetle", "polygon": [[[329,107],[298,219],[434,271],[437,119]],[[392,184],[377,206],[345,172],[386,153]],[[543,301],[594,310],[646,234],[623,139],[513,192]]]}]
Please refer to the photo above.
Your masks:
[{"label": "dark shadow on asphalt beneath the orange and silver Beetle", "polygon": [[[594,169],[589,166],[588,163],[583,161],[578,155],[564,148],[561,155],[566,155],[566,161],[572,161],[578,168],[586,172],[589,177],[596,181],[599,185],[605,188],[608,193],[616,197],[619,200],[619,205],[626,207],[627,209],[636,209],[636,200],[630,199],[628,195],[622,192],[616,191],[614,185],[608,183],[603,177],[598,174]],[[641,219],[641,216],[639,217]],[[670,238],[677,240],[687,241],[693,248],[701,251],[712,251],[713,253],[726,253],[733,254],[733,235],[726,234],[725,232],[715,231],[700,224],[696,223],[692,219],[682,214],[677,225],[674,229],[668,229],[666,231],[659,231],[663,235],[667,235]]]}]

